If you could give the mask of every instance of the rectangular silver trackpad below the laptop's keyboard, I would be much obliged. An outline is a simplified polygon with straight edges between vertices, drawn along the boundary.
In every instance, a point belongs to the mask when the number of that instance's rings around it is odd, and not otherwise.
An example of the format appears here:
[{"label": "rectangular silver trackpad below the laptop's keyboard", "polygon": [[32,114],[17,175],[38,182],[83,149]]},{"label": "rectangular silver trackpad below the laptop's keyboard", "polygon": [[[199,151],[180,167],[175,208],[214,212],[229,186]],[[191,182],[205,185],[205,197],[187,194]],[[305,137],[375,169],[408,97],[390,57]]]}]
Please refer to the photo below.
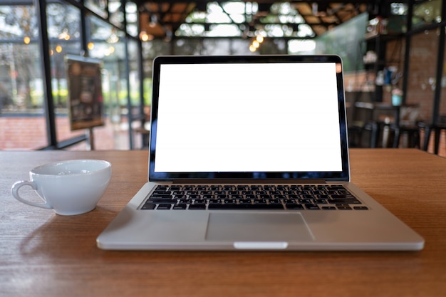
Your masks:
[{"label": "rectangular silver trackpad below the laptop's keyboard", "polygon": [[214,212],[209,214],[207,240],[312,241],[313,236],[298,212]]}]

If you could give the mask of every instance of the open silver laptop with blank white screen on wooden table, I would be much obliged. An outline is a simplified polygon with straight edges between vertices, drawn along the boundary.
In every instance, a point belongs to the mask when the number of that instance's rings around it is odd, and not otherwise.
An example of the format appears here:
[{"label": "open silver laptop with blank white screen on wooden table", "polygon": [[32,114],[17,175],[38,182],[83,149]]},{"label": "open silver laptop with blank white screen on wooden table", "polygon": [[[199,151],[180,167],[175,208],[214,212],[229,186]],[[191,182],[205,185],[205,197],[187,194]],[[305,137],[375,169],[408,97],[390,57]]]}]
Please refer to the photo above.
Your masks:
[{"label": "open silver laptop with blank white screen on wooden table", "polygon": [[100,249],[423,248],[350,182],[338,56],[160,56],[152,71],[148,181]]}]

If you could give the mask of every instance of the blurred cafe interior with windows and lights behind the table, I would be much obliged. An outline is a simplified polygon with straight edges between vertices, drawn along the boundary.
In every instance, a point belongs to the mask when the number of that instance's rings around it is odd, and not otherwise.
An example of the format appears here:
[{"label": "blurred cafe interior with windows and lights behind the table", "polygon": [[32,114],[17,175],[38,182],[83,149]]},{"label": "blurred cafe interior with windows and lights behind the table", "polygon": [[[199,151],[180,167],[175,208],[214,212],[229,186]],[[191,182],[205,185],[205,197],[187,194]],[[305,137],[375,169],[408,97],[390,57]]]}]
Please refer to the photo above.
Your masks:
[{"label": "blurred cafe interior with windows and lights behind the table", "polygon": [[[0,150],[144,149],[155,56],[334,53],[344,62],[351,147],[446,157],[445,6],[0,0]],[[98,63],[99,75],[73,80],[80,68],[68,68],[70,56]],[[71,100],[76,82],[81,95]],[[79,106],[81,114],[100,110],[100,120],[73,125]]]}]

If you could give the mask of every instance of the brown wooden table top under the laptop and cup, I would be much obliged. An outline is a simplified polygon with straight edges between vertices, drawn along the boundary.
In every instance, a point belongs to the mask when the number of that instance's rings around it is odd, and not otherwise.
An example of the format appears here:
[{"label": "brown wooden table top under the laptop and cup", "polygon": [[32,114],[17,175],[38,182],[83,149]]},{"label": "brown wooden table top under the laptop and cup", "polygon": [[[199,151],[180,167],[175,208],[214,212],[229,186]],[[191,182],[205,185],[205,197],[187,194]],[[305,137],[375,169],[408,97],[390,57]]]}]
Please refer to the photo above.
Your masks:
[{"label": "brown wooden table top under the laptop and cup", "polygon": [[[11,196],[32,167],[81,158],[113,164],[93,212]],[[446,296],[446,159],[427,152],[351,150],[352,181],[425,238],[418,252],[103,251],[96,236],[146,181],[147,152],[0,152],[0,168],[0,296]]]}]

